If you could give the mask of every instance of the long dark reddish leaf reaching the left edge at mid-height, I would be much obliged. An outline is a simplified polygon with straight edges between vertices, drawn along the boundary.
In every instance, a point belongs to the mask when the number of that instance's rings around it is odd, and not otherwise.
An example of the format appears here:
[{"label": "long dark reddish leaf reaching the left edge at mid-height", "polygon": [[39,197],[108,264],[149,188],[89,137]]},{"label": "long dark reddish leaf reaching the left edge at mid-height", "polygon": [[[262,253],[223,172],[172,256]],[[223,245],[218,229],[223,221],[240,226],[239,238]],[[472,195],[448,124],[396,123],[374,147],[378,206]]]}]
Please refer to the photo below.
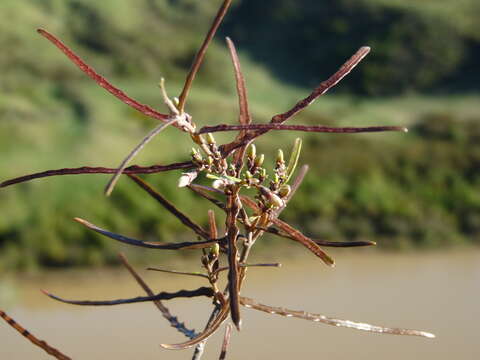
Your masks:
[{"label": "long dark reddish leaf reaching the left edge at mid-height", "polygon": [[[191,161],[175,163],[170,165],[153,165],[153,166],[146,166],[146,167],[132,165],[127,167],[125,170],[123,170],[123,174],[154,174],[154,173],[159,173],[163,171],[191,169],[193,167],[194,165]],[[64,169],[57,169],[57,170],[47,170],[47,171],[24,175],[14,179],[4,181],[0,183],[0,188],[7,187],[14,184],[19,184],[25,181],[49,177],[49,176],[79,175],[79,174],[115,174],[116,171],[117,171],[116,168],[89,167],[89,166],[82,166],[78,168],[64,168]]]}]

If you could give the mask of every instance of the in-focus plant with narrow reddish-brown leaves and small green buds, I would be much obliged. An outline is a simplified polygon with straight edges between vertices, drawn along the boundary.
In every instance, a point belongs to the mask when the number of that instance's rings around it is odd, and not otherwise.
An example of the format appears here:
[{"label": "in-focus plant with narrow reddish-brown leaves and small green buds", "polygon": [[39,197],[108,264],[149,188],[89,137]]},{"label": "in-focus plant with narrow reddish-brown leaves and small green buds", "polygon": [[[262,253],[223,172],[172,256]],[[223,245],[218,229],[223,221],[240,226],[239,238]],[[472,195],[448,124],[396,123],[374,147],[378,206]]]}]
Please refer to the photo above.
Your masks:
[{"label": "in-focus plant with narrow reddish-brown leaves and small green buds", "polygon": [[[145,283],[141,276],[132,268],[127,259],[121,255],[120,259],[130,274],[138,282],[140,287],[147,294],[130,299],[119,299],[109,301],[76,301],[62,299],[56,295],[45,291],[45,294],[51,298],[74,305],[118,305],[130,304],[142,301],[151,301],[161,311],[165,319],[172,327],[184,334],[188,340],[180,344],[162,344],[166,349],[185,349],[195,346],[194,359],[199,359],[203,353],[203,348],[207,339],[214,334],[220,326],[230,317],[238,330],[241,328],[241,306],[263,311],[269,314],[278,314],[287,317],[297,317],[315,322],[322,322],[334,326],[350,327],[354,329],[396,335],[416,335],[423,337],[434,337],[430,333],[386,328],[364,323],[356,323],[348,320],[339,320],[326,317],[324,315],[312,314],[304,311],[294,311],[285,308],[263,305],[255,300],[240,295],[242,285],[246,281],[247,269],[253,266],[272,266],[279,264],[248,264],[247,260],[254,244],[261,238],[265,232],[287,238],[302,244],[307,250],[316,255],[328,266],[334,266],[334,260],[322,249],[322,247],[354,247],[375,245],[374,242],[327,242],[314,240],[304,235],[300,230],[279,219],[281,212],[285,209],[288,201],[292,198],[297,188],[301,185],[305,177],[308,166],[301,168],[296,178],[289,184],[299,159],[301,150],[301,140],[297,139],[291,152],[290,161],[287,163],[284,159],[284,153],[281,149],[274,162],[274,173],[268,174],[263,166],[263,154],[257,154],[253,141],[261,135],[265,135],[274,130],[304,131],[304,132],[326,132],[326,133],[358,133],[358,132],[378,132],[378,131],[406,131],[403,127],[379,126],[379,127],[346,127],[332,128],[328,126],[306,126],[306,125],[284,125],[283,123],[293,118],[300,111],[308,107],[319,96],[325,94],[329,89],[342,80],[353,68],[368,54],[370,48],[362,47],[354,54],[340,69],[329,79],[322,82],[305,99],[300,100],[288,111],[275,115],[268,124],[254,124],[249,111],[247,91],[245,80],[242,75],[240,62],[233,42],[227,38],[227,45],[231,54],[239,102],[239,125],[219,124],[205,126],[197,130],[196,124],[190,114],[186,112],[188,105],[188,94],[192,82],[197,74],[208,45],[220,26],[223,17],[231,5],[231,0],[224,0],[218,14],[207,33],[204,43],[198,51],[191,70],[186,78],[185,86],[179,99],[171,100],[165,91],[162,80],[162,93],[165,104],[168,108],[168,114],[161,113],[148,105],[141,104],[129,97],[125,92],[113,86],[108,80],[99,75],[92,67],[87,65],[70,48],[63,44],[58,38],[46,30],[40,29],[38,32],[47,38],[51,43],[57,46],[80,70],[96,81],[101,87],[113,94],[123,103],[133,107],[142,114],[161,122],[156,126],[139,145],[133,149],[125,158],[122,164],[116,168],[103,167],[80,167],[75,169],[49,170],[42,173],[36,173],[21,176],[15,179],[4,181],[0,187],[30,181],[37,178],[57,176],[57,175],[76,175],[76,174],[114,174],[107,185],[106,193],[110,194],[118,177],[122,174],[128,175],[137,185],[153,197],[177,217],[187,228],[193,231],[192,234],[201,238],[201,241],[191,241],[184,243],[152,243],[145,242],[130,237],[116,234],[104,230],[90,222],[76,218],[75,220],[87,228],[107,236],[111,239],[133,245],[159,250],[182,250],[182,249],[201,249],[201,262],[205,268],[204,273],[186,273],[182,271],[173,271],[166,269],[152,269],[157,271],[170,272],[175,274],[197,276],[207,280],[208,286],[199,287],[194,290],[180,290],[175,293],[160,292],[153,293],[150,287]],[[158,133],[166,126],[172,125],[180,131],[187,133],[194,143],[194,148],[190,154],[191,159],[177,164],[153,165],[150,167],[130,166],[128,162]],[[227,144],[217,144],[212,133],[218,131],[238,131],[236,138]],[[206,135],[204,135],[206,134]],[[196,224],[181,210],[165,199],[160,193],[154,190],[145,180],[138,177],[138,174],[154,174],[172,170],[188,170],[183,173],[179,179],[179,187],[188,187],[200,197],[210,201],[213,205],[219,207],[225,212],[225,226],[223,230],[217,227],[213,211],[209,212],[209,229],[203,229]],[[197,176],[206,175],[213,179],[213,187],[196,185],[193,183]],[[255,197],[249,197],[242,194],[245,188],[254,189]],[[220,235],[219,235],[220,233]],[[228,264],[222,266],[220,253],[225,252]],[[228,271],[228,285],[224,290],[219,289],[218,279],[223,271]],[[213,310],[207,316],[208,321],[205,329],[196,332],[186,327],[177,317],[173,316],[163,301],[175,298],[193,298],[198,296],[207,296],[212,299]],[[230,315],[230,316],[229,316]],[[13,319],[4,312],[0,316],[12,327],[17,329],[23,336],[27,337],[32,343],[43,348],[50,355],[57,359],[69,359],[67,356],[53,349],[43,341],[36,339],[28,331],[18,325]],[[226,328],[225,338],[221,349],[220,359],[224,359],[227,353],[227,346],[231,336],[230,325]]]}]

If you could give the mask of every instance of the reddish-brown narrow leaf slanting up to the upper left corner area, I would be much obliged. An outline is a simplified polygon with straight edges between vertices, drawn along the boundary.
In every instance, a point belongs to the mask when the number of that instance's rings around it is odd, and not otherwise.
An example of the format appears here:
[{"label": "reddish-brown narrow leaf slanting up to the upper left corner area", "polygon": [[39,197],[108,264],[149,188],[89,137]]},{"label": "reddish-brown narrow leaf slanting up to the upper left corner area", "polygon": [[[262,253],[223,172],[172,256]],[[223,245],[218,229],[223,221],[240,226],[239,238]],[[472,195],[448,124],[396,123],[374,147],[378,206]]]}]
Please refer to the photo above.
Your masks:
[{"label": "reddish-brown narrow leaf slanting up to the upper left corner area", "polygon": [[91,66],[87,65],[77,54],[75,54],[68,46],[60,41],[56,36],[50,34],[44,29],[37,29],[38,33],[48,39],[53,45],[59,48],[80,70],[93,79],[98,85],[103,87],[109,93],[118,98],[121,102],[127,104],[138,110],[145,116],[165,121],[168,119],[168,115],[161,114],[157,110],[152,109],[150,106],[141,104],[138,101],[132,99],[122,90],[113,86],[107,79],[98,74]]}]

